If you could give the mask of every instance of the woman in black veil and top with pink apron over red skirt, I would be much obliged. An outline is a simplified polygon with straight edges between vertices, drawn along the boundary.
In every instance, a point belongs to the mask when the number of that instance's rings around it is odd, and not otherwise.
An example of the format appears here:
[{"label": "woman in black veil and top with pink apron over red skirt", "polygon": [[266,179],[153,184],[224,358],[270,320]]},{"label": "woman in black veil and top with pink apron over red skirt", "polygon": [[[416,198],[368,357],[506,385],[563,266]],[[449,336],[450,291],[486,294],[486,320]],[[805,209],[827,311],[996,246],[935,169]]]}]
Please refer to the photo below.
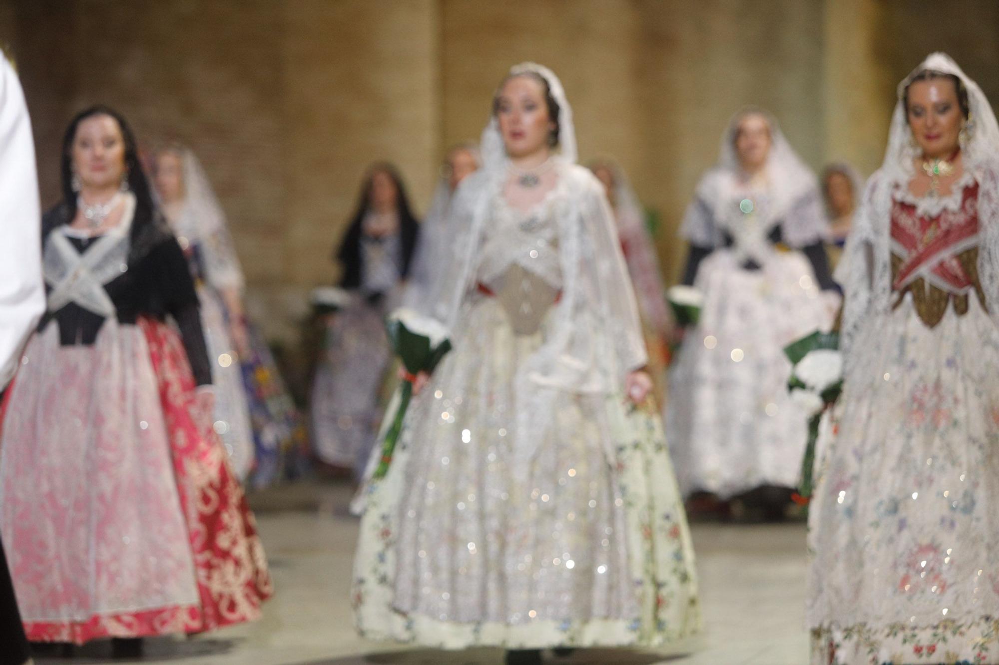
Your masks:
[{"label": "woman in black veil and top with pink apron over red skirt", "polygon": [[187,263],[120,115],[73,120],[62,185],[47,311],[2,423],[0,532],[29,639],[135,654],[134,638],[256,618],[270,579],[211,427]]}]

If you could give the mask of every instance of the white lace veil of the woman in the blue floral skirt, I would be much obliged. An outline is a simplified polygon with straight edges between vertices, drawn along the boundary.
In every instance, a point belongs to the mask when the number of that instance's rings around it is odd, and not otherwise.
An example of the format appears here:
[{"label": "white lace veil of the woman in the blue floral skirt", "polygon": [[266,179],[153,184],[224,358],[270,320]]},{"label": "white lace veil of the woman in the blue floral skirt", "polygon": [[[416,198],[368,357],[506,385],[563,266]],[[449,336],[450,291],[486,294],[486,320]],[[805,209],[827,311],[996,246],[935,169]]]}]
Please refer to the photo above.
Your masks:
[{"label": "white lace veil of the woman in the blue floral skirt", "polygon": [[243,271],[226,224],[226,214],[201,162],[189,148],[170,146],[166,150],[181,156],[184,177],[184,205],[178,218],[172,221],[174,233],[198,245],[209,285],[215,289],[242,291]]}]

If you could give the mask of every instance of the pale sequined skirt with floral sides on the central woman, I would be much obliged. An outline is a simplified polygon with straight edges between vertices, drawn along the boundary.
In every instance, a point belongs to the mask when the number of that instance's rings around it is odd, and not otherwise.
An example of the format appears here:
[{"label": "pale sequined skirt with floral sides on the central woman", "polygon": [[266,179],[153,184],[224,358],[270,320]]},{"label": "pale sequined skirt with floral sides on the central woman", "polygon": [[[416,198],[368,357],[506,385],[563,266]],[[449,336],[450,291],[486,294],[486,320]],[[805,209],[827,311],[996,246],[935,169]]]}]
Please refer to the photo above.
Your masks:
[{"label": "pale sequined skirt with floral sides on the central woman", "polygon": [[514,334],[496,299],[468,316],[389,473],[365,490],[360,632],[461,649],[648,646],[697,630],[658,417],[620,394],[562,392],[532,461],[515,464],[513,374],[540,334]]}]

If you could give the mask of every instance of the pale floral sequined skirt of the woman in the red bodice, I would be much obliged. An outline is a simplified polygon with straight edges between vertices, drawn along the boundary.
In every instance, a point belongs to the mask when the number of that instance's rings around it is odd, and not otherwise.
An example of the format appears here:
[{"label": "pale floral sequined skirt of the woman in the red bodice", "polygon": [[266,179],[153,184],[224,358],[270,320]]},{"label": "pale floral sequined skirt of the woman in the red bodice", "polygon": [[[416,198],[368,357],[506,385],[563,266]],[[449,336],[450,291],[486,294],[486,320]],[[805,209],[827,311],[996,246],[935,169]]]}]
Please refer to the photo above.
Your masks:
[{"label": "pale floral sequined skirt of the woman in the red bodice", "polygon": [[[812,663],[999,663],[999,329],[868,325],[810,514]],[[861,374],[860,372],[865,372]]]}]

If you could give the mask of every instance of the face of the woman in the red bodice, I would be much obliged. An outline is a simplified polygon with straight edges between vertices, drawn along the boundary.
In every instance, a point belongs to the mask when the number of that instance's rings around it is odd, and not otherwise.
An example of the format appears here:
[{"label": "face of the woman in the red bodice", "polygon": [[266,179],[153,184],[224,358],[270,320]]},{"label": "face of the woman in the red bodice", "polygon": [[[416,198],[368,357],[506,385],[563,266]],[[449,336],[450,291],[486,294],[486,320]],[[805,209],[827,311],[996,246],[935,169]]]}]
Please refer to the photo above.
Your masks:
[{"label": "face of the woman in the red bodice", "polygon": [[942,159],[957,150],[964,117],[953,81],[916,81],[909,86],[908,109],[909,129],[924,156]]}]

